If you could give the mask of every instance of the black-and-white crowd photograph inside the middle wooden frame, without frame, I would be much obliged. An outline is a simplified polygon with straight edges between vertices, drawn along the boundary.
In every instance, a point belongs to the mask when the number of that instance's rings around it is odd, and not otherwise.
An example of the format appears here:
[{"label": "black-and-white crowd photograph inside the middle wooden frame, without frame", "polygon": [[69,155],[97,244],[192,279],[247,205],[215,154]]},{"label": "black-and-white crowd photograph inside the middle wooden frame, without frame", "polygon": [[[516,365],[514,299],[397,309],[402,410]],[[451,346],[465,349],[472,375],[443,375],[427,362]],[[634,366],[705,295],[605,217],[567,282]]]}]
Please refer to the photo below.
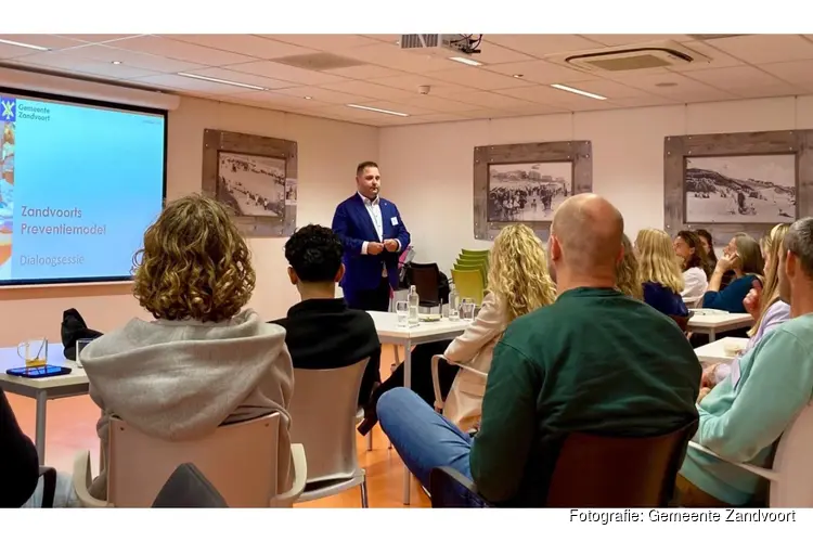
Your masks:
[{"label": "black-and-white crowd photograph inside the middle wooden frame, without frame", "polygon": [[572,193],[572,162],[489,165],[489,221],[551,220]]}]

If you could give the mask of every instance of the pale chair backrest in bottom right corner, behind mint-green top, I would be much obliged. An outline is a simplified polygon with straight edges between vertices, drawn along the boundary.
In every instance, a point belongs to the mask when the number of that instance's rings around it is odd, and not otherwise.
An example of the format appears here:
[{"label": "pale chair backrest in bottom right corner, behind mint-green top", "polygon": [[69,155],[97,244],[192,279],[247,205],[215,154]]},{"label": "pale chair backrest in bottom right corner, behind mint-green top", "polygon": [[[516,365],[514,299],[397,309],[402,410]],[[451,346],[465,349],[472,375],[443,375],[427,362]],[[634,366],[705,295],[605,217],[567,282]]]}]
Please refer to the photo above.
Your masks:
[{"label": "pale chair backrest in bottom right corner, behind mint-green top", "polygon": [[785,430],[774,455],[778,480],[771,483],[772,508],[813,507],[813,403],[809,403]]}]

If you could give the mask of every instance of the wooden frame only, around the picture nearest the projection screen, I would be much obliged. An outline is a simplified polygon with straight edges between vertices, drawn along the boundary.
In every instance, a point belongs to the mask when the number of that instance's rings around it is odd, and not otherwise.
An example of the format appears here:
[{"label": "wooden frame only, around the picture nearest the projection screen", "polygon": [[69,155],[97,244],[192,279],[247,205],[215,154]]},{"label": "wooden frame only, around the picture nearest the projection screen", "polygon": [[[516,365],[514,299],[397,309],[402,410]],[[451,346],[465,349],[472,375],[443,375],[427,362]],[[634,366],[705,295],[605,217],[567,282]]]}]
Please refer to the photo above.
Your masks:
[{"label": "wooden frame only, around the picture nearest the projection screen", "polygon": [[[288,141],[222,130],[204,130],[203,192],[222,199],[219,191],[220,153],[279,158],[285,162],[283,216],[235,216],[234,222],[247,237],[288,237],[296,230],[297,144]],[[287,197],[293,194],[292,197]]]}]

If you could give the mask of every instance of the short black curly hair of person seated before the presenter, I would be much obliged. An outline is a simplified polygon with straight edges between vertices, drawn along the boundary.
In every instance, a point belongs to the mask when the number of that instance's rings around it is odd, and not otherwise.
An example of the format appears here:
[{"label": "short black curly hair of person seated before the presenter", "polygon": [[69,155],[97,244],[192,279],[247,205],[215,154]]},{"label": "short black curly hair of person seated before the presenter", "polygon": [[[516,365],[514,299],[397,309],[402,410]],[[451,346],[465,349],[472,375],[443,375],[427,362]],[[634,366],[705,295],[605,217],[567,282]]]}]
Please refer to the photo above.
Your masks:
[{"label": "short black curly hair of person seated before the presenter", "polygon": [[285,259],[302,282],[333,282],[341,267],[344,247],[333,230],[308,224],[285,243]]}]

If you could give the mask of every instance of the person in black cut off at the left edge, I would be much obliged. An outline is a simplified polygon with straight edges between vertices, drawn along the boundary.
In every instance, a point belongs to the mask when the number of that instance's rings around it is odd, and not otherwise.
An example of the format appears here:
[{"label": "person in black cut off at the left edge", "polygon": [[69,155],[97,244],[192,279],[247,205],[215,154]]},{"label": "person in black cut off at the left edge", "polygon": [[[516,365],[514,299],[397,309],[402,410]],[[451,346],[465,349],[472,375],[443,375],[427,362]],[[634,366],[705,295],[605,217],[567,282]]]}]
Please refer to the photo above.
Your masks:
[{"label": "person in black cut off at the left edge", "polygon": [[38,481],[37,449],[20,428],[5,392],[0,389],[0,507],[23,506]]}]

